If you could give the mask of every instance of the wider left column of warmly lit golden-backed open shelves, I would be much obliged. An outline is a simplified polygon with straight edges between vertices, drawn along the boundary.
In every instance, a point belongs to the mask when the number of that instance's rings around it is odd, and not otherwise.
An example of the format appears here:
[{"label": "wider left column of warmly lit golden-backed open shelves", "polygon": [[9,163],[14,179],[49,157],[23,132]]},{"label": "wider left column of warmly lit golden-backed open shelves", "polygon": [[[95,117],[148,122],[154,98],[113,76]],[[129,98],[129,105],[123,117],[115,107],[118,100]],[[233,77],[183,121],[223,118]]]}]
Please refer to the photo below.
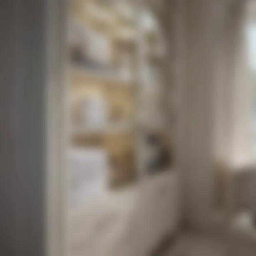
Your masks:
[{"label": "wider left column of warmly lit golden-backed open shelves", "polygon": [[[137,179],[136,20],[129,5],[71,0],[70,6],[70,102],[76,119],[71,144],[104,149],[109,160],[107,183],[116,188]],[[94,99],[95,105],[104,101],[101,111],[105,112],[105,120],[96,126],[83,118],[83,108]]]}]

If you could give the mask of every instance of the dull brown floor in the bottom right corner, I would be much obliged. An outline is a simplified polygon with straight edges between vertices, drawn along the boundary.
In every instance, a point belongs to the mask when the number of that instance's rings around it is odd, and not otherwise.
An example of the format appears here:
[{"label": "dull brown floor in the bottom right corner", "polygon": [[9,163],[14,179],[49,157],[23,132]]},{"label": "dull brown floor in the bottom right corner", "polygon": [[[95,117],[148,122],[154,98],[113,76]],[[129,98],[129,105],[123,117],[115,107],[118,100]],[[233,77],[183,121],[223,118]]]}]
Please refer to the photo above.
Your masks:
[{"label": "dull brown floor in the bottom right corner", "polygon": [[[225,231],[224,231],[225,230]],[[211,233],[186,232],[162,256],[255,256],[256,229],[242,213],[227,229]]]}]

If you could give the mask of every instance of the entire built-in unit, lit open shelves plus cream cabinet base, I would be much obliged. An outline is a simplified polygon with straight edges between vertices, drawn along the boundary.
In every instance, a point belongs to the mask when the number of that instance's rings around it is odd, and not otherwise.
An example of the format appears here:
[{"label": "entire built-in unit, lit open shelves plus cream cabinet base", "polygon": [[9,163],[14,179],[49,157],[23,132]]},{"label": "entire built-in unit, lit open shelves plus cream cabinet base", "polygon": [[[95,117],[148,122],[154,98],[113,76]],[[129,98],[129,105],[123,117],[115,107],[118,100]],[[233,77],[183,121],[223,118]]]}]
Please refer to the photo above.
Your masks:
[{"label": "entire built-in unit, lit open shelves plus cream cabinet base", "polygon": [[[166,159],[169,127],[161,76],[166,56],[158,22],[136,0],[70,1],[70,21],[81,26],[79,34],[89,28],[111,47],[110,58],[102,58],[102,63],[98,56],[92,63],[90,58],[70,58],[71,144],[82,164],[74,178],[80,191],[73,190],[78,207],[70,207],[68,250],[78,255],[130,250],[127,255],[148,255],[159,238],[175,229],[178,216],[176,174]],[[76,40],[70,42],[83,55],[86,43],[80,48]],[[102,115],[98,104],[104,109],[104,120],[96,125],[88,122],[87,99],[96,105],[94,116]]]}]

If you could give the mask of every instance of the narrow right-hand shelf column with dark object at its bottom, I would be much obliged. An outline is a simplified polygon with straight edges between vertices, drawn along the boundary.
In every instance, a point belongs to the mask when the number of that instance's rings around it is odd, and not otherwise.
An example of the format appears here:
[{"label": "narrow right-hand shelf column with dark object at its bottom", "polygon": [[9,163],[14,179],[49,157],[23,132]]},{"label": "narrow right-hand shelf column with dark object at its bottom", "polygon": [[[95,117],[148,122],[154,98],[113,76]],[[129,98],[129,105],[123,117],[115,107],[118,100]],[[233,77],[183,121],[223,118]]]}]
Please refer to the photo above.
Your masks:
[{"label": "narrow right-hand shelf column with dark object at its bottom", "polygon": [[[162,34],[161,22],[154,13],[143,7],[139,26],[140,50],[140,154],[142,177],[148,173],[156,174],[171,167],[171,141],[169,127],[169,102],[166,90],[167,49]],[[152,149],[165,155],[162,160],[151,161]],[[160,153],[161,152],[161,153]]]}]

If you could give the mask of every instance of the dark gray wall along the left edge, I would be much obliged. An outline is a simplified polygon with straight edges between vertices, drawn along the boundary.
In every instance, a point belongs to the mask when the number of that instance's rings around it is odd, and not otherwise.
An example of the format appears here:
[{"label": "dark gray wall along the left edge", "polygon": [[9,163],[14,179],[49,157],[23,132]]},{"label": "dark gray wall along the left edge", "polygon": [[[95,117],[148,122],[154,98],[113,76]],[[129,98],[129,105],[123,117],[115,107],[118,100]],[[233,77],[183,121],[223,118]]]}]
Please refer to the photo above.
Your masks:
[{"label": "dark gray wall along the left edge", "polygon": [[45,1],[0,7],[0,255],[44,254]]}]

